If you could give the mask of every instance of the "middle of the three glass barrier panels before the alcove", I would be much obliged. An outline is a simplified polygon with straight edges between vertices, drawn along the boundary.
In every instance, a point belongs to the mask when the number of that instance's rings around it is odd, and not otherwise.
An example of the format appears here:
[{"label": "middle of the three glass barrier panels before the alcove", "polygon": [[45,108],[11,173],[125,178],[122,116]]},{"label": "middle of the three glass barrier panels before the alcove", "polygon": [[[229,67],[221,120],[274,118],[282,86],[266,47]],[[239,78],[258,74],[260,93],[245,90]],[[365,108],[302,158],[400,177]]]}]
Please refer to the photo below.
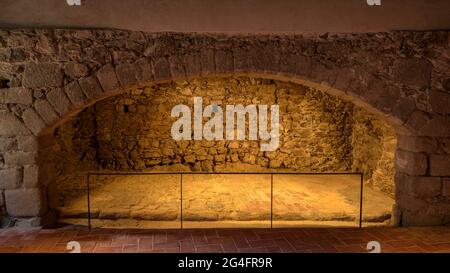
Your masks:
[{"label": "middle of the three glass barrier panels before the alcove", "polygon": [[183,228],[270,228],[270,174],[183,174]]}]

